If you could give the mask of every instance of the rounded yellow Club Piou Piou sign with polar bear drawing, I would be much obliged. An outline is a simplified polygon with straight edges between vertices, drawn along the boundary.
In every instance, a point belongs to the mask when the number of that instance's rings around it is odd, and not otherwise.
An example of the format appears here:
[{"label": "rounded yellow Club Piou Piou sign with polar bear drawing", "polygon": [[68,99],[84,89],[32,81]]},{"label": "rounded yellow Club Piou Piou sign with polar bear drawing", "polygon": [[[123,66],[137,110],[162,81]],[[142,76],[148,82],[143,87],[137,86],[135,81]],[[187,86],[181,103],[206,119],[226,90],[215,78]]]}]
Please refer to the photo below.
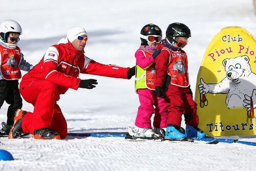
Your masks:
[{"label": "rounded yellow Club Piou Piou sign with polar bear drawing", "polygon": [[197,77],[199,128],[207,135],[255,135],[256,41],[245,29],[221,30]]}]

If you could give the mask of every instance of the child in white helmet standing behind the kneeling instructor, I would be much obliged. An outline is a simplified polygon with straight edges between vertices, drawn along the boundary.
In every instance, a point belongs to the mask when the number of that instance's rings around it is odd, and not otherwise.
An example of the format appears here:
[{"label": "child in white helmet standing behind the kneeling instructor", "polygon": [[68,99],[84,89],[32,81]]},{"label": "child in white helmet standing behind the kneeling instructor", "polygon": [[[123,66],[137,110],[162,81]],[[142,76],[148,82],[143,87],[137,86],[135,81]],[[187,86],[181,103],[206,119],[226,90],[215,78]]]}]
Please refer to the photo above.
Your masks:
[{"label": "child in white helmet standing behind the kneeling instructor", "polygon": [[17,109],[22,108],[22,98],[19,94],[18,80],[22,78],[21,70],[29,71],[33,65],[24,60],[17,46],[22,28],[14,20],[4,20],[0,23],[0,108],[6,101],[9,104],[7,123],[2,123],[0,136],[8,135],[14,121]]}]

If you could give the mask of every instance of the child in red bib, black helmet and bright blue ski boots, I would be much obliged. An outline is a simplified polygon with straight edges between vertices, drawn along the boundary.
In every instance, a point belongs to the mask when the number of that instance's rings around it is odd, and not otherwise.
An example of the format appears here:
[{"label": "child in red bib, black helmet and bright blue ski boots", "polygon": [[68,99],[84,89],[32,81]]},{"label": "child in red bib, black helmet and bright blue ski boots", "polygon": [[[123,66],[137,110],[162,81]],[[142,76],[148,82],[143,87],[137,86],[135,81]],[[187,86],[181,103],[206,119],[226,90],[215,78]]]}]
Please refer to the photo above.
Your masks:
[{"label": "child in red bib, black helmet and bright blue ski boots", "polygon": [[[168,109],[165,139],[206,136],[198,128],[197,104],[193,100],[188,80],[187,54],[182,50],[189,37],[191,33],[186,25],[179,22],[170,24],[166,30],[166,39],[159,45],[162,51],[155,60],[156,94],[165,98]],[[181,128],[183,114],[186,131]]]}]

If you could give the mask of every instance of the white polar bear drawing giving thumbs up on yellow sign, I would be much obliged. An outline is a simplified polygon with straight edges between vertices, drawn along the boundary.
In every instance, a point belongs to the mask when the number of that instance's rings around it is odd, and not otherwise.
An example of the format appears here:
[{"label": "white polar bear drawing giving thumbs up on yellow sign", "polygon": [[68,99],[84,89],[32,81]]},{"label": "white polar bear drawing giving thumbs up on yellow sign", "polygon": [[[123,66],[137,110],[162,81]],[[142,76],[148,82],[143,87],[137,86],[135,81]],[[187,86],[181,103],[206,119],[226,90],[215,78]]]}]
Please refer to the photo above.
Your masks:
[{"label": "white polar bear drawing giving thumbs up on yellow sign", "polygon": [[251,103],[256,108],[256,75],[251,71],[248,56],[223,60],[226,77],[217,84],[207,84],[201,78],[198,89],[202,94],[227,94],[226,105],[229,109],[250,110]]}]

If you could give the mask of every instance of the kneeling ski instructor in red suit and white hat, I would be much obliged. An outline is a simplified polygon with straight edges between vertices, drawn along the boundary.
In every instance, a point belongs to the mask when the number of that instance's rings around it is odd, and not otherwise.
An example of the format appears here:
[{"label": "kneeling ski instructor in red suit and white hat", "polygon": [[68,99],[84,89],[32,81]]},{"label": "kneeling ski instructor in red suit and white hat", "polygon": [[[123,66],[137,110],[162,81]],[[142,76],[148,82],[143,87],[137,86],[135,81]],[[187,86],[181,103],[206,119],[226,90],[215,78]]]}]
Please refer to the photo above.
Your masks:
[{"label": "kneeling ski instructor in red suit and white hat", "polygon": [[34,106],[34,111],[17,110],[9,138],[30,133],[35,139],[64,139],[67,122],[57,101],[69,89],[95,87],[97,80],[81,80],[80,73],[112,78],[131,79],[135,67],[105,65],[84,56],[88,41],[86,30],[74,27],[67,37],[52,45],[44,57],[20,82],[20,94]]}]

